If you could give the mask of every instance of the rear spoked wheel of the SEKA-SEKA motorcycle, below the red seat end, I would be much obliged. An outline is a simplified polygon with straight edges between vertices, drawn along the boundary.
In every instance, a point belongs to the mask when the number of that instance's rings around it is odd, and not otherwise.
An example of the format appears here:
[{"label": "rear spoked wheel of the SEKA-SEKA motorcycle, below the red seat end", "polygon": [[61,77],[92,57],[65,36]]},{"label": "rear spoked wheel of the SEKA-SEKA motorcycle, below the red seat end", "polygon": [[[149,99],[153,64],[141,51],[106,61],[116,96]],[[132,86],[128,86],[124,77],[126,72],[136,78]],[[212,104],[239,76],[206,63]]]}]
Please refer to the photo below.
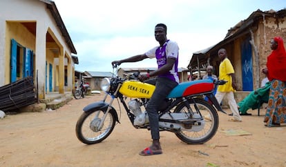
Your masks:
[{"label": "rear spoked wheel of the SEKA-SEKA motorcycle, below the red seat end", "polygon": [[[174,112],[188,112],[187,104],[181,103]],[[203,99],[189,99],[189,107],[196,118],[202,118],[201,125],[193,125],[187,130],[180,130],[175,135],[187,144],[203,144],[211,139],[218,130],[218,112]]]}]

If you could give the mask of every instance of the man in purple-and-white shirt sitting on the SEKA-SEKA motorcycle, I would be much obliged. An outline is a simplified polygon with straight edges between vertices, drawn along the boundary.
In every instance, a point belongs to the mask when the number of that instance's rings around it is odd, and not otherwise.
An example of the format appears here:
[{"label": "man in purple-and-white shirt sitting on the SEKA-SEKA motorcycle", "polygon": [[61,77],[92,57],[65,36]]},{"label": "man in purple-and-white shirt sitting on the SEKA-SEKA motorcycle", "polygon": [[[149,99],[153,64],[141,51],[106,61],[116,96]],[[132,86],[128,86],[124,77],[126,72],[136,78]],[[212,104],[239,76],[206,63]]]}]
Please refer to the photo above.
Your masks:
[{"label": "man in purple-and-white shirt sitting on the SEKA-SEKA motorcycle", "polygon": [[158,23],[155,26],[155,39],[160,43],[160,46],[145,52],[142,55],[135,55],[119,61],[113,61],[112,64],[120,65],[126,62],[142,61],[146,58],[156,58],[158,64],[158,70],[151,71],[146,75],[141,75],[140,80],[146,80],[150,77],[156,78],[155,90],[146,107],[146,112],[149,116],[149,124],[151,129],[151,137],[153,143],[151,146],[145,148],[140,152],[140,155],[158,155],[162,154],[162,148],[160,146],[160,128],[159,128],[159,115],[158,108],[160,104],[164,102],[164,99],[169,92],[175,88],[180,82],[178,77],[178,55],[179,47],[175,41],[171,41],[166,38],[166,25]]}]

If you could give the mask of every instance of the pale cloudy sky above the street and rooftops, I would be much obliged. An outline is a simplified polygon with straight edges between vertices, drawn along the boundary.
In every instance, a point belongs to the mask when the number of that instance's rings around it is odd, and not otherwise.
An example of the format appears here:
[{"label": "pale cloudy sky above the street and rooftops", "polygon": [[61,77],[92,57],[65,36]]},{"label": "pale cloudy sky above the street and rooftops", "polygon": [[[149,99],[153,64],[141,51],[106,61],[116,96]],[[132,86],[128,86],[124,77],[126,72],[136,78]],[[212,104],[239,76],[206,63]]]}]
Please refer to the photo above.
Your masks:
[{"label": "pale cloudy sky above the street and rooftops", "polygon": [[[112,72],[111,61],[158,46],[154,26],[165,23],[167,38],[180,48],[179,67],[193,52],[222,41],[227,30],[260,10],[286,8],[285,0],[54,0],[77,50],[75,70]],[[121,67],[156,67],[155,59]]]}]

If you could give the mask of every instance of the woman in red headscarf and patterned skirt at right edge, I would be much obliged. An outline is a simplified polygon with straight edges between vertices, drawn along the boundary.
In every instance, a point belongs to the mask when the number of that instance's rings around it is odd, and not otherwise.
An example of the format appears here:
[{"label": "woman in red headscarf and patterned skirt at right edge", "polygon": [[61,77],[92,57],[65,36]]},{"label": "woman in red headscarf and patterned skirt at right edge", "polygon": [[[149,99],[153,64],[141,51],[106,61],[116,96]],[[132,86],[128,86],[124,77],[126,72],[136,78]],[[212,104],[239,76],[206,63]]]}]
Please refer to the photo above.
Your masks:
[{"label": "woman in red headscarf and patterned skirt at right edge", "polygon": [[274,127],[286,123],[286,52],[281,37],[271,39],[271,54],[267,57],[267,68],[263,68],[271,81],[265,126]]}]

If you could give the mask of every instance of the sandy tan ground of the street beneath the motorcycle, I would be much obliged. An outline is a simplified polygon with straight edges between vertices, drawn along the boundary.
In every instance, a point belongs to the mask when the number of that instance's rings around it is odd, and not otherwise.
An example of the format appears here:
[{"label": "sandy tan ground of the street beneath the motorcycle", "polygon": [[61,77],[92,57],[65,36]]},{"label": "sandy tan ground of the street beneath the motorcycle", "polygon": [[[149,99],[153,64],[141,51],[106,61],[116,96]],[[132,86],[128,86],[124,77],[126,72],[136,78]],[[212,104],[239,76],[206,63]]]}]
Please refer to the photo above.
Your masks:
[{"label": "sandy tan ground of the street beneath the motorcycle", "polygon": [[[229,116],[219,113],[218,132],[205,144],[184,144],[173,133],[161,132],[162,155],[138,155],[151,144],[150,132],[133,128],[124,110],[121,124],[106,140],[82,144],[75,124],[82,108],[99,99],[102,95],[87,96],[57,110],[1,119],[0,166],[286,166],[286,126],[265,127],[264,109],[260,116],[249,110],[253,115],[242,116],[242,122],[227,121]],[[227,136],[226,130],[251,135]]]}]

